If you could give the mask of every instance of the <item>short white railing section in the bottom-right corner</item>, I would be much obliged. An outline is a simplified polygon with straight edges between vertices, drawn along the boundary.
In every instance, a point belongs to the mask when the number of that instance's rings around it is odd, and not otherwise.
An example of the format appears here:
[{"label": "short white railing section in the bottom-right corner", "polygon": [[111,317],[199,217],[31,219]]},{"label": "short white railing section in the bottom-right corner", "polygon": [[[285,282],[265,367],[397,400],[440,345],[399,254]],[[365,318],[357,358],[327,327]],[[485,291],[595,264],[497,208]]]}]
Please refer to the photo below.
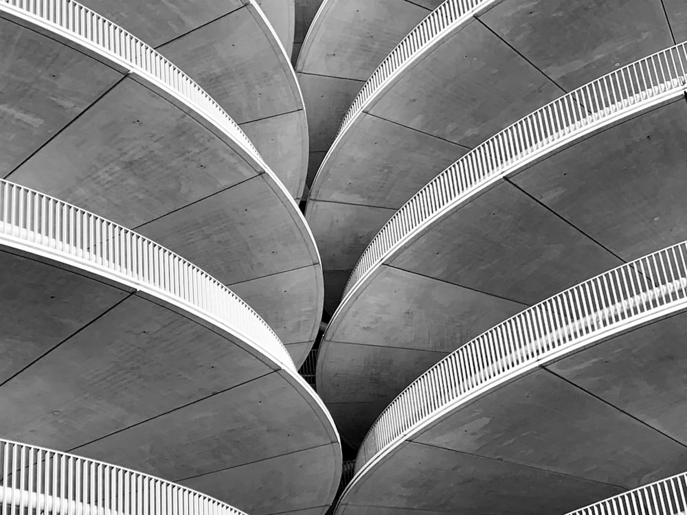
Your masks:
[{"label": "short white railing section in the bottom-right corner", "polygon": [[568,515],[684,515],[687,473],[618,494]]}]

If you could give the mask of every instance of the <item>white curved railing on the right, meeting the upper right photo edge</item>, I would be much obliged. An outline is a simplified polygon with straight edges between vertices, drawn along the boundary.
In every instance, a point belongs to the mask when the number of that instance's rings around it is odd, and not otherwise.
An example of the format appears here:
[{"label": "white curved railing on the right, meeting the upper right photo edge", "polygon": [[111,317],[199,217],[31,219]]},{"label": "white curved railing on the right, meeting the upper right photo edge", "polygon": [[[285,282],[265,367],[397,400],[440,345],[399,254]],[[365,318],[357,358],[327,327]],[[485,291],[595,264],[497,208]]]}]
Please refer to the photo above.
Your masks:
[{"label": "white curved railing on the right, meeting the upper right photo edge", "polygon": [[657,52],[576,89],[484,141],[438,174],[382,227],[343,296],[394,247],[480,187],[613,119],[687,89],[687,43]]}]

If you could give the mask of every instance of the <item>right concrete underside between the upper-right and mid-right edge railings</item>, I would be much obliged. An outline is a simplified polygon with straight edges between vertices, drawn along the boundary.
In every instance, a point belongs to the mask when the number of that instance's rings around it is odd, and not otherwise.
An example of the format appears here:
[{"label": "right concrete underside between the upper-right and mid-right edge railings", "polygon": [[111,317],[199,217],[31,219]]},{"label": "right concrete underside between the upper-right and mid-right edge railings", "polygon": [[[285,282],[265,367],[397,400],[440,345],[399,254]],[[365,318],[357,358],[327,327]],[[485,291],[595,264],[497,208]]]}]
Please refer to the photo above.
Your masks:
[{"label": "right concrete underside between the upper-right and mid-right edge railings", "polygon": [[391,401],[409,384],[372,392],[380,367],[404,380],[428,368],[394,358],[398,347],[451,352],[525,306],[687,239],[685,139],[681,97],[550,152],[388,255],[341,305],[319,353],[318,391],[337,405],[341,437],[359,444],[379,413],[353,417],[357,404]]}]

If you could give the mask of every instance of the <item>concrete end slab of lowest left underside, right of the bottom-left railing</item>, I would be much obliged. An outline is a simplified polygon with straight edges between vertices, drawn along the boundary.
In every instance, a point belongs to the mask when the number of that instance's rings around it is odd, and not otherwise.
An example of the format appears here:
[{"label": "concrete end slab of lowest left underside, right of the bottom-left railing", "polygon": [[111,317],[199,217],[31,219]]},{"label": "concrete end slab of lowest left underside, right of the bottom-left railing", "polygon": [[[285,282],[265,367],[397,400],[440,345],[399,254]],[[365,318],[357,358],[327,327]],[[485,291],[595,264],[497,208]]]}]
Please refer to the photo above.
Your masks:
[{"label": "concrete end slab of lowest left underside, right of the bottom-left railing", "polygon": [[[289,456],[275,457],[259,463],[229,468],[214,474],[185,479],[179,483],[220,498],[234,497],[236,506],[255,515],[288,512],[322,515],[327,506],[312,507],[321,502],[333,483],[339,482],[331,468],[315,468],[333,458],[332,446],[320,446]],[[293,474],[294,465],[307,467],[308,472]],[[269,474],[264,474],[269,470]],[[257,493],[240,488],[248,479],[254,481]]]}]

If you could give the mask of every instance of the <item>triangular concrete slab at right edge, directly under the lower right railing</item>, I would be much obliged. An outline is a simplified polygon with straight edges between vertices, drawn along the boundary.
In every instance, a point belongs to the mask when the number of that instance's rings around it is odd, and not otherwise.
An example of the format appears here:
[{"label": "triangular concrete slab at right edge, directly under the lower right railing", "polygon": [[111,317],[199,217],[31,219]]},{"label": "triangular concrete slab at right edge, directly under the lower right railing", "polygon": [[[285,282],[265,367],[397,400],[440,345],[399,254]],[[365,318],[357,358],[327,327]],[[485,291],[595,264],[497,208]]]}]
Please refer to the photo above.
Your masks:
[{"label": "triangular concrete slab at right edge, directly under the lower right railing", "polygon": [[547,368],[574,385],[687,444],[684,407],[687,314],[620,334]]}]

